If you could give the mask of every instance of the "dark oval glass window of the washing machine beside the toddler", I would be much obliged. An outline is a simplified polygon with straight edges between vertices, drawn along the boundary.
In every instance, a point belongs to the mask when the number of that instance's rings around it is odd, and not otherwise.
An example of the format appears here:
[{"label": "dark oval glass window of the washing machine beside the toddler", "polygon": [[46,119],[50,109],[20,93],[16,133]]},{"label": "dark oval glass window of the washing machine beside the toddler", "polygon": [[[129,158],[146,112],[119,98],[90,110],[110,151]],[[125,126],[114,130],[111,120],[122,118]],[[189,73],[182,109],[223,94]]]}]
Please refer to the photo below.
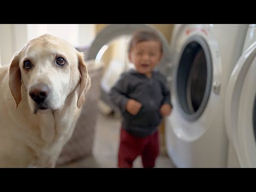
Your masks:
[{"label": "dark oval glass window of the washing machine beside the toddler", "polygon": [[189,42],[183,49],[177,72],[177,98],[190,120],[202,115],[212,82],[210,51],[202,39],[198,40]]}]

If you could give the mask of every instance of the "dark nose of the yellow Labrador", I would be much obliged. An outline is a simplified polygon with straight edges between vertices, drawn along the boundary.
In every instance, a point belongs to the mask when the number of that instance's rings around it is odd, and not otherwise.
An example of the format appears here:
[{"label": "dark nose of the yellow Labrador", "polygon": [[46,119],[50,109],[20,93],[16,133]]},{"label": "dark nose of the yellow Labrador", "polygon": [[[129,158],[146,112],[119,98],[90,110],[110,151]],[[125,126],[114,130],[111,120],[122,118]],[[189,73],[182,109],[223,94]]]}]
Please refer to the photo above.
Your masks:
[{"label": "dark nose of the yellow Labrador", "polygon": [[36,103],[42,103],[50,92],[50,87],[45,84],[36,84],[30,87],[29,95]]}]

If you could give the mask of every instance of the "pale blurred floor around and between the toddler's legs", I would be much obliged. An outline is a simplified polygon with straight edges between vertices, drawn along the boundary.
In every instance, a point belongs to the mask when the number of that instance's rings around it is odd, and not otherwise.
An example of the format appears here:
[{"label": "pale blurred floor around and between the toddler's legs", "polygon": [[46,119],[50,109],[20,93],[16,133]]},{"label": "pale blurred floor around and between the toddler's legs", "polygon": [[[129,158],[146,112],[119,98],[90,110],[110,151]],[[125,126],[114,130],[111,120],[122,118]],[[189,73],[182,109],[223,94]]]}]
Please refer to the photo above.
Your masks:
[{"label": "pale blurred floor around and between the toddler's legs", "polygon": [[[120,118],[113,116],[108,117],[99,113],[94,136],[93,155],[81,159],[77,162],[62,165],[61,167],[117,167],[120,124]],[[135,159],[133,167],[142,167],[140,157]],[[170,158],[166,155],[158,156],[156,161],[156,168],[166,167],[174,167]]]}]

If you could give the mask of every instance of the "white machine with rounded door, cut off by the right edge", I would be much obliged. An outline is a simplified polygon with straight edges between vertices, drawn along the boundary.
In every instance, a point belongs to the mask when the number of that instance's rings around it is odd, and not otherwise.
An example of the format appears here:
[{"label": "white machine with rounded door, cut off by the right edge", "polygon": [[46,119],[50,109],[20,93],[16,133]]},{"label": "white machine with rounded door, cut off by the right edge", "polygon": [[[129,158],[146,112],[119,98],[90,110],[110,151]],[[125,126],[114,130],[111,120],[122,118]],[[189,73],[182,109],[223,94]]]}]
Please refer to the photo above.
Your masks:
[{"label": "white machine with rounded door, cut off by the right edge", "polygon": [[228,167],[256,167],[256,25],[247,30],[243,54],[227,86],[225,123]]}]

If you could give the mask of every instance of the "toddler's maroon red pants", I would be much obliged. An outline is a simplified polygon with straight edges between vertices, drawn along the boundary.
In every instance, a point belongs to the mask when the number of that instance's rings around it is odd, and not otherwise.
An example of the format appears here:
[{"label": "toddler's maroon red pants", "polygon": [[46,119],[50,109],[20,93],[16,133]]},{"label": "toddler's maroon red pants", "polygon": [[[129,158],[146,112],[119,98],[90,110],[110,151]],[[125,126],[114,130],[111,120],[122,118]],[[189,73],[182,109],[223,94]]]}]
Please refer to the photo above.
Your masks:
[{"label": "toddler's maroon red pants", "polygon": [[145,168],[155,166],[159,154],[158,131],[147,137],[134,137],[131,133],[121,129],[118,151],[118,167],[130,168],[132,163],[141,155],[142,165]]}]

